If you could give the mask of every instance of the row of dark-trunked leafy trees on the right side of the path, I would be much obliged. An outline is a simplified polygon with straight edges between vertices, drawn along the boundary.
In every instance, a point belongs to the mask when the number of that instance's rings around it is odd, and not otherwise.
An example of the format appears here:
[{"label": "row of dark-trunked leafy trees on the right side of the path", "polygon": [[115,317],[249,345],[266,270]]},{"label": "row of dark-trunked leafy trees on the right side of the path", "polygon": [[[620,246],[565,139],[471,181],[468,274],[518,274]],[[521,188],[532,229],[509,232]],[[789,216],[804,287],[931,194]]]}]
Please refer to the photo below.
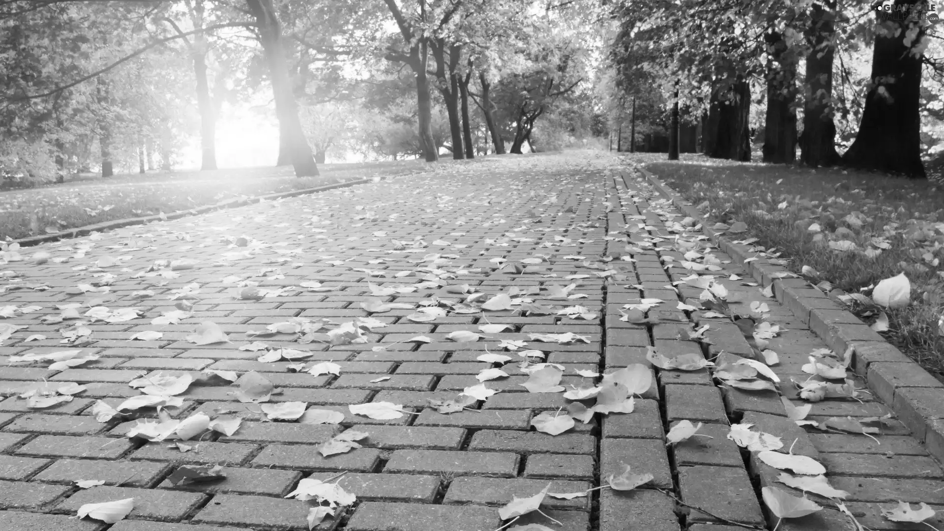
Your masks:
[{"label": "row of dark-trunked leafy trees on the right side of the path", "polygon": [[[922,178],[922,149],[944,140],[931,130],[944,132],[936,9],[929,0],[622,0],[615,84],[649,101],[650,87],[661,88],[654,99],[670,117],[670,157],[687,118],[700,122],[704,153],[750,160],[751,89],[760,88],[765,162],[794,163],[799,144],[811,166]],[[857,59],[870,62],[862,78]],[[842,155],[837,123],[851,139]]]}]

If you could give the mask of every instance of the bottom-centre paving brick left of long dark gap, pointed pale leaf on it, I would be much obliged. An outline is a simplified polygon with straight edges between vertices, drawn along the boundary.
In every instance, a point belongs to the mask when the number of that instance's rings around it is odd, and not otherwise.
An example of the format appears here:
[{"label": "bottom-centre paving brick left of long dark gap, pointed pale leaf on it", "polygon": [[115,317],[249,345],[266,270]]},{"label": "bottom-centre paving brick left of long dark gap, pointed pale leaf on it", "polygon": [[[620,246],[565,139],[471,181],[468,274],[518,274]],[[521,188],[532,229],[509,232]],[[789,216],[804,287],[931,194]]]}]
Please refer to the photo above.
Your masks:
[{"label": "bottom-centre paving brick left of long dark gap, pointed pale leaf on it", "polygon": [[[449,484],[443,503],[447,505],[505,505],[511,502],[514,496],[526,498],[537,494],[542,488],[548,487],[548,483],[550,484],[548,490],[550,492],[579,492],[590,488],[590,484],[584,481],[457,477]],[[558,500],[548,496],[541,505],[588,510],[590,508],[590,498]]]}]

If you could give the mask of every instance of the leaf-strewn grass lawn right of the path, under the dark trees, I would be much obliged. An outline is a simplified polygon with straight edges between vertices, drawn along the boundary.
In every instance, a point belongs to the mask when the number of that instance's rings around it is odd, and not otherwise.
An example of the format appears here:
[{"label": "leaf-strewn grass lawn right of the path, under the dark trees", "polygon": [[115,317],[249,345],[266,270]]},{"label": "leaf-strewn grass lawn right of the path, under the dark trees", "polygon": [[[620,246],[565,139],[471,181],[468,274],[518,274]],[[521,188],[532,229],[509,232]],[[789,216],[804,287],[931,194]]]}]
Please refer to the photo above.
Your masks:
[{"label": "leaf-strewn grass lawn right of the path, under the dark trees", "polygon": [[[822,288],[870,294],[904,272],[911,304],[888,310],[891,343],[944,376],[944,186],[844,169],[733,163],[701,155],[666,162],[633,156],[709,214],[714,223],[744,221],[755,245],[782,253],[785,266]],[[747,236],[745,236],[747,237]],[[770,249],[775,248],[775,249]],[[823,282],[826,283],[823,283]],[[867,322],[880,308],[854,302]]]}]

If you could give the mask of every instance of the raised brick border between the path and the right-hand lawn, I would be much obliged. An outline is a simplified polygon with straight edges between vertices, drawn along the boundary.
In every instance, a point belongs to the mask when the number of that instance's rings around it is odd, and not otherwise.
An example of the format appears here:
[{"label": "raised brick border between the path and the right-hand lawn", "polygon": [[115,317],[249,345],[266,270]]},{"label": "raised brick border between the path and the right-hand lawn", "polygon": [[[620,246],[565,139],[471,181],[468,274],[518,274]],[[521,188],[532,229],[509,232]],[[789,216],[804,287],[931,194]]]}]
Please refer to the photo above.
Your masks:
[{"label": "raised brick border between the path and the right-hand lawn", "polygon": [[[636,169],[685,215],[703,219],[703,214],[662,180],[642,167]],[[924,441],[928,452],[944,461],[944,384],[812,284],[800,278],[779,277],[778,273],[789,272],[786,267],[770,264],[750,252],[748,246],[733,243],[723,231],[711,227],[703,227],[702,231],[758,283],[765,287],[773,284],[774,297],[830,349],[843,352],[851,347],[852,371],[865,378],[868,389],[891,407],[914,437]],[[750,258],[756,260],[746,263]]]}]

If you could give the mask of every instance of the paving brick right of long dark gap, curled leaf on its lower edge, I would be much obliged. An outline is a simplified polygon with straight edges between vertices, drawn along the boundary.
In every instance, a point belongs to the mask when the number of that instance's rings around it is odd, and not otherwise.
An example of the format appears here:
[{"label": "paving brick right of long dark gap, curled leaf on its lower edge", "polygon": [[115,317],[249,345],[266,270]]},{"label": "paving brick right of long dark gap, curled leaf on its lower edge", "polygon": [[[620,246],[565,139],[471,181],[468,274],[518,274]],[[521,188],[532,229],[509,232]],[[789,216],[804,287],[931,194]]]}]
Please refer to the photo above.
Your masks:
[{"label": "paving brick right of long dark gap, curled leaf on its lower edge", "polygon": [[666,445],[651,438],[605,438],[600,447],[600,477],[619,475],[629,465],[633,471],[648,472],[654,477],[652,487],[672,488]]}]

